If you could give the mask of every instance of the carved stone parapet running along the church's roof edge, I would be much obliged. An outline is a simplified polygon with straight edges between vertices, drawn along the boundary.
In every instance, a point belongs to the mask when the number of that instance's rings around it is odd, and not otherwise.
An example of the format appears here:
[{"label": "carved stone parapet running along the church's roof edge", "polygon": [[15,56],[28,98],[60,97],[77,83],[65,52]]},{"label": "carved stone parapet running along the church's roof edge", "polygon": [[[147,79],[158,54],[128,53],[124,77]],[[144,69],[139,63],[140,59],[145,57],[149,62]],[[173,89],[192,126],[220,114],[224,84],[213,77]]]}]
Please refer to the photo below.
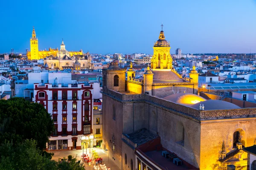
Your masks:
[{"label": "carved stone parapet running along the church's roof edge", "polygon": [[[104,94],[104,93],[103,93]],[[148,94],[121,94],[110,89],[105,90],[105,94],[112,96],[113,98],[122,102],[134,102],[144,101],[150,102],[154,105],[167,108],[179,113],[184,113],[187,116],[191,116],[198,120],[211,120],[211,119],[230,119],[241,117],[255,117],[256,108],[239,108],[239,109],[224,109],[224,110],[199,110],[191,108],[189,106],[180,105],[174,102],[170,102],[165,99],[158,98],[156,96],[150,96]]]}]

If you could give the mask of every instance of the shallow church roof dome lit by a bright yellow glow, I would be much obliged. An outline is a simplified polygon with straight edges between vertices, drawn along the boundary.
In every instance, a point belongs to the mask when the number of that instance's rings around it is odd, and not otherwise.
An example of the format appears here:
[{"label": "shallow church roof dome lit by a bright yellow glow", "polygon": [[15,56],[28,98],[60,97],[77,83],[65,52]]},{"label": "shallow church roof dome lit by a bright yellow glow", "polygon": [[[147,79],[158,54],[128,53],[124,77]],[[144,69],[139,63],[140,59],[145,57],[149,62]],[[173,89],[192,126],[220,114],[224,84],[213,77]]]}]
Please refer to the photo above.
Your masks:
[{"label": "shallow church roof dome lit by a bright yellow glow", "polygon": [[171,94],[165,96],[163,99],[183,105],[194,105],[196,103],[206,101],[203,97],[191,93]]}]

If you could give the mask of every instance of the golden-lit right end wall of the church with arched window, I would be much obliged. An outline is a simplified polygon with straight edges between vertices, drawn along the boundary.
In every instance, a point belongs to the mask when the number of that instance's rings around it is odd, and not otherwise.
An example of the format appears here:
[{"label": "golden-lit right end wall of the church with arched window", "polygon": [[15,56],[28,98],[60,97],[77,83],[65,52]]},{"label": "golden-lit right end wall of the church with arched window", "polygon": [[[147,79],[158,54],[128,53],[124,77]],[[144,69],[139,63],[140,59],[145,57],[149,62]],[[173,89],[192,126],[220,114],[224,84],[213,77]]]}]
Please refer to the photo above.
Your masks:
[{"label": "golden-lit right end wall of the church with arched window", "polygon": [[[224,141],[225,143],[226,152],[231,152],[233,150],[233,133],[237,130],[241,134],[244,146],[252,146],[256,136],[255,124],[256,118],[201,121],[200,169],[218,169],[222,142]],[[242,163],[246,162],[246,158],[247,153],[244,153],[244,161],[237,162],[237,164],[242,165]]]}]

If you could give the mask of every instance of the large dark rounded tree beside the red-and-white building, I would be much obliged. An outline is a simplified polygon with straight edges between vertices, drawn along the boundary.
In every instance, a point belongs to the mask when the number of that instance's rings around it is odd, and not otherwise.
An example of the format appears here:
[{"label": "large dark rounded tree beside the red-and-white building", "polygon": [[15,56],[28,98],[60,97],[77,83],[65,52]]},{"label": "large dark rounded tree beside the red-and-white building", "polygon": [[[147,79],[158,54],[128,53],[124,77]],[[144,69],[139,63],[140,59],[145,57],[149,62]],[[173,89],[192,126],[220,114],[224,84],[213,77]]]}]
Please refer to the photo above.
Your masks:
[{"label": "large dark rounded tree beside the red-and-white building", "polygon": [[17,97],[0,100],[0,106],[0,143],[35,139],[41,150],[45,148],[54,124],[44,106]]}]

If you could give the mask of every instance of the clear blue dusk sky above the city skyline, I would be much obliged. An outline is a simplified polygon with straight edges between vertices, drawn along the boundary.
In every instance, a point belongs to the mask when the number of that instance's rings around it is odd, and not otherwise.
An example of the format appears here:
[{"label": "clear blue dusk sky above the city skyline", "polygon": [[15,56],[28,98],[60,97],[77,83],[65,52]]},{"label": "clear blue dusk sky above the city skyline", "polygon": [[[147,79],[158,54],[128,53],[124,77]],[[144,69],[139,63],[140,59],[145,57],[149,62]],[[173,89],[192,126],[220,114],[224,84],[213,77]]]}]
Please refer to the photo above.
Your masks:
[{"label": "clear blue dusk sky above the city skyline", "polygon": [[39,49],[153,53],[163,23],[171,53],[256,53],[256,0],[1,0],[0,53]]}]

